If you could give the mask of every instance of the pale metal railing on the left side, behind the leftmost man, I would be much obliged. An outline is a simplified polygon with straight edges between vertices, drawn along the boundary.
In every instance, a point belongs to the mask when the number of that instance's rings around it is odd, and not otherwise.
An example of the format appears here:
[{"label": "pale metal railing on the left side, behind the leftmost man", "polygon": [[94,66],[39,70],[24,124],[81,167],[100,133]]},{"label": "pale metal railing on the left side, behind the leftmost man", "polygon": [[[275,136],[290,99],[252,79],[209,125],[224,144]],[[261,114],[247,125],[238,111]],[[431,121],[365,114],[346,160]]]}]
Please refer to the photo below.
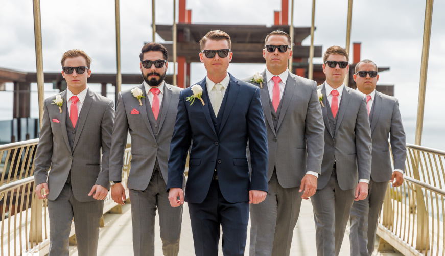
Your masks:
[{"label": "pale metal railing on the left side, behind the leftmost man", "polygon": [[[48,253],[46,199],[38,200],[34,193],[33,160],[37,143],[38,139],[32,139],[0,146],[0,256]],[[131,148],[127,148],[122,174],[125,187],[130,160]],[[117,205],[108,193],[104,213]]]}]

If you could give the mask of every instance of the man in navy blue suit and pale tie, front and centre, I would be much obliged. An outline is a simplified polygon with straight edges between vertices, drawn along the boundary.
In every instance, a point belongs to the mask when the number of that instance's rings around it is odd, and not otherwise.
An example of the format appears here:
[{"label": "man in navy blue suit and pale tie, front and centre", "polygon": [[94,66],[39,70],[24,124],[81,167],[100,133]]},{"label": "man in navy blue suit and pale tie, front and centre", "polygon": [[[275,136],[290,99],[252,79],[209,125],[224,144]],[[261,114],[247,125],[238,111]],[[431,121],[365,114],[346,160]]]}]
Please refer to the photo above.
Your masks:
[{"label": "man in navy blue suit and pale tie, front and centre", "polygon": [[[267,135],[260,89],[227,73],[233,55],[227,33],[210,31],[200,46],[207,76],[180,92],[168,164],[169,200],[173,207],[184,203],[182,174],[193,139],[185,201],[195,254],[218,255],[222,226],[224,255],[244,255],[249,203],[261,203],[267,192]],[[188,101],[194,97],[195,101]]]}]

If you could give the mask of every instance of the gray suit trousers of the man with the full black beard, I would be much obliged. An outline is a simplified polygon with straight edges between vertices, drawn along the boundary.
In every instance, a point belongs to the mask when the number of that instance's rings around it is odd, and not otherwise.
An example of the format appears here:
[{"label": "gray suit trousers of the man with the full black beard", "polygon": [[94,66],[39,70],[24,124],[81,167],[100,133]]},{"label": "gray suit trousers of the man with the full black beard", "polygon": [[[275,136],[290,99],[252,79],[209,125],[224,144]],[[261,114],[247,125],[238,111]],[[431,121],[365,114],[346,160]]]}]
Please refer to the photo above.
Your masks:
[{"label": "gray suit trousers of the man with the full black beard", "polygon": [[133,251],[135,256],[154,255],[154,225],[159,212],[160,237],[165,256],[177,256],[181,235],[182,206],[170,206],[166,182],[156,168],[147,189],[130,189]]}]

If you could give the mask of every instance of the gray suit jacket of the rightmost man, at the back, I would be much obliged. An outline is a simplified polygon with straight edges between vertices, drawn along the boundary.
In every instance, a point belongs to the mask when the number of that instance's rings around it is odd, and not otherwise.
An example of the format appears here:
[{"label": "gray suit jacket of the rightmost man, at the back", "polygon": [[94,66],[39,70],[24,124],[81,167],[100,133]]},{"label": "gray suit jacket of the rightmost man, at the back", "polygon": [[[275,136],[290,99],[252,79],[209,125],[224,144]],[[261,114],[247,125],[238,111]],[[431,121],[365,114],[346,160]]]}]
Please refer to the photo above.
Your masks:
[{"label": "gray suit jacket of the rightmost man, at the back", "polygon": [[405,170],[405,131],[396,98],[376,91],[370,112],[372,138],[371,178],[376,182],[391,179],[392,166],[388,136],[391,143],[394,169]]}]

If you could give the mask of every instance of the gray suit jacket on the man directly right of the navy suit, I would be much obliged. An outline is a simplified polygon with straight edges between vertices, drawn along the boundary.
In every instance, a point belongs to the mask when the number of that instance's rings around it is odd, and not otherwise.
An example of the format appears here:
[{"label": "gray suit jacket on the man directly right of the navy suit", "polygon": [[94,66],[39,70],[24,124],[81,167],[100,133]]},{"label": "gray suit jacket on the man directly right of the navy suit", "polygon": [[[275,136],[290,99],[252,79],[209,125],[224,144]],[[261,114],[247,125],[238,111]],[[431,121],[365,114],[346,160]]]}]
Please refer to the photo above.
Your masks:
[{"label": "gray suit jacket on the man directly right of the navy suit", "polygon": [[[268,180],[275,167],[278,182],[283,188],[299,187],[307,171],[321,173],[324,124],[317,83],[289,73],[275,129],[265,71],[262,76],[264,82],[260,96],[269,147]],[[253,83],[250,78],[246,81]]]}]

